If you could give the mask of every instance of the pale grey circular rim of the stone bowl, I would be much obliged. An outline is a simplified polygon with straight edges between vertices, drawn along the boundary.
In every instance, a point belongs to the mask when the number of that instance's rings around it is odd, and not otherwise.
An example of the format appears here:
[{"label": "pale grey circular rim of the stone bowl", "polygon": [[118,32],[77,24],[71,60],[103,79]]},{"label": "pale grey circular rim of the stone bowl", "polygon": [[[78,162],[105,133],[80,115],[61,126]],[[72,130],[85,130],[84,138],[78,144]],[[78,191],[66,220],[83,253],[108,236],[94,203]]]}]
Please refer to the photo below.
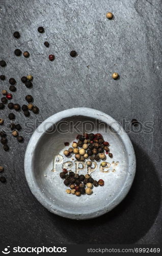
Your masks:
[{"label": "pale grey circular rim of the stone bowl", "polygon": [[[47,198],[44,194],[42,194],[42,191],[40,187],[37,184],[36,178],[34,176],[33,172],[33,156],[35,152],[35,148],[37,147],[37,143],[45,133],[38,133],[38,129],[40,130],[43,128],[43,125],[47,123],[46,125],[46,130],[51,126],[51,123],[57,123],[58,121],[61,121],[64,118],[72,117],[72,116],[85,116],[85,117],[90,117],[90,118],[95,118],[99,119],[107,124],[111,124],[111,127],[117,132],[117,134],[120,136],[120,138],[123,141],[123,144],[126,148],[126,152],[128,155],[128,172],[127,172],[127,177],[124,182],[124,185],[120,191],[120,193],[116,196],[116,198],[111,202],[111,206],[109,204],[105,205],[103,208],[97,211],[89,212],[89,213],[82,213],[77,215],[73,214],[72,212],[66,211],[66,209],[59,208],[57,205],[55,205],[55,208],[51,207],[51,201],[49,198]],[[45,119],[35,130],[33,133],[28,146],[26,147],[26,152],[25,152],[25,157],[24,157],[24,173],[25,173],[25,178],[26,181],[28,182],[28,185],[32,191],[32,194],[36,197],[36,199],[49,211],[52,213],[66,217],[69,219],[77,219],[77,220],[85,220],[85,219],[92,219],[99,217],[106,212],[112,210],[114,207],[116,207],[127,195],[135,173],[136,173],[136,156],[134,153],[134,149],[132,146],[132,143],[129,139],[129,136],[126,134],[124,131],[123,127],[119,122],[117,122],[114,118],[111,116],[95,109],[90,109],[90,108],[72,108],[72,109],[67,109],[61,112],[58,112],[47,119]],[[129,175],[128,175],[129,174]]]}]

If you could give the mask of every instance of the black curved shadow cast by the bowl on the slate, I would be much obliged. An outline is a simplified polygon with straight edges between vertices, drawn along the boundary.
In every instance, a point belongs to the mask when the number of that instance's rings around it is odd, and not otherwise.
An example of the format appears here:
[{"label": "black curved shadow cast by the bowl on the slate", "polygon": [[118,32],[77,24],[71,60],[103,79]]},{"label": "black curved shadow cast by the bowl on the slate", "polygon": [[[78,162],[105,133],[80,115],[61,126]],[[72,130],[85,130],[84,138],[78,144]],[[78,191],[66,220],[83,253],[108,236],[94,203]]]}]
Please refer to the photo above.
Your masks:
[{"label": "black curved shadow cast by the bowl on the slate", "polygon": [[160,182],[149,156],[136,144],[133,146],[137,157],[136,176],[128,195],[116,208],[101,217],[83,221],[48,212],[56,228],[67,234],[67,243],[132,244],[151,228],[160,207]]}]

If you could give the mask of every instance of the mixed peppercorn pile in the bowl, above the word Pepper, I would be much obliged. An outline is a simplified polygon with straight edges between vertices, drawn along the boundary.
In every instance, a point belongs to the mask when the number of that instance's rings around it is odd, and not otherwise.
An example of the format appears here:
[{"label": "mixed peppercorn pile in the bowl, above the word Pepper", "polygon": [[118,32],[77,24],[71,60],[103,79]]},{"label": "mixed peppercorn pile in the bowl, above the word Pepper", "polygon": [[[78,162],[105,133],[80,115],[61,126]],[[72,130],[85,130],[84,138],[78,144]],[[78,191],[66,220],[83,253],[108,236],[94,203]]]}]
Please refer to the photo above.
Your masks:
[{"label": "mixed peppercorn pile in the bowl, above the word Pepper", "polygon": [[[84,161],[88,157],[90,157],[91,161],[103,160],[106,158],[105,154],[109,155],[110,158],[113,158],[113,154],[110,153],[109,142],[104,141],[103,136],[100,133],[85,133],[84,135],[77,135],[76,139],[77,142],[74,141],[72,147],[69,147],[68,150],[64,151],[65,156],[70,156],[71,153],[74,153],[75,158],[79,161]],[[88,166],[91,166],[91,161],[87,161]]]}]

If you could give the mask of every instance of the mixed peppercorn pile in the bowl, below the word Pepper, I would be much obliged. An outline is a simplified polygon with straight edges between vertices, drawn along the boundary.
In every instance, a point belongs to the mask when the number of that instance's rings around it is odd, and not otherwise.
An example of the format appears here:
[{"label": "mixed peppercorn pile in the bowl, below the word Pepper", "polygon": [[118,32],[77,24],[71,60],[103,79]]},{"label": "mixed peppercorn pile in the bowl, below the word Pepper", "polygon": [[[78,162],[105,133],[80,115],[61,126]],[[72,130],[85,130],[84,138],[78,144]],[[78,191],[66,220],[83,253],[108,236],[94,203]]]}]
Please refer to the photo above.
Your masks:
[{"label": "mixed peppercorn pile in the bowl, below the word Pepper", "polygon": [[104,181],[94,180],[89,174],[78,175],[74,172],[69,172],[66,168],[63,168],[63,172],[60,173],[60,177],[64,180],[66,186],[70,186],[70,189],[66,189],[66,193],[73,194],[79,197],[80,195],[91,195],[93,186],[97,187],[98,185],[103,186]]}]

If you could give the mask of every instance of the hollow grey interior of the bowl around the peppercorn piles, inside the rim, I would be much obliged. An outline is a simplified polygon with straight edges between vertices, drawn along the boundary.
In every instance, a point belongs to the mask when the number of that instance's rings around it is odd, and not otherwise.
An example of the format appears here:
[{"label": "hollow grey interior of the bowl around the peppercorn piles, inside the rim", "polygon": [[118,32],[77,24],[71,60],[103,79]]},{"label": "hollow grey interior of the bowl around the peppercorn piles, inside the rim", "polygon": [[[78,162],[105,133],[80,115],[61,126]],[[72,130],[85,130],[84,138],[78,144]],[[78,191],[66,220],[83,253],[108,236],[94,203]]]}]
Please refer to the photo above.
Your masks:
[{"label": "hollow grey interior of the bowl around the peppercorn piles, inside the rim", "polygon": [[[59,209],[62,212],[79,216],[83,213],[91,214],[91,212],[100,211],[105,207],[110,206],[111,208],[114,200],[121,193],[127,175],[129,175],[128,155],[119,134],[112,130],[111,124],[107,125],[95,118],[87,118],[82,115],[62,119],[61,122],[55,125],[51,123],[49,126],[50,128],[46,131],[46,124],[44,124],[43,130],[46,132],[40,131],[42,136],[34,151],[33,172],[42,197],[50,202],[51,211]],[[101,133],[104,140],[110,143],[110,152],[113,154],[113,158],[106,155],[105,161],[109,162],[111,167],[105,169],[105,173],[99,170],[103,160],[97,162],[97,169],[92,173],[94,180],[104,180],[104,186],[94,187],[91,195],[76,197],[65,192],[68,187],[64,185],[59,175],[62,171],[62,164],[56,164],[56,172],[52,172],[53,158],[57,154],[62,155],[63,162],[70,161],[72,167],[69,169],[75,172],[74,161],[76,159],[74,155],[67,158],[63,152],[71,146],[73,141],[76,141],[77,134],[84,132]],[[70,145],[65,146],[65,142],[69,142]],[[79,170],[79,174],[87,173],[87,168]]]}]

